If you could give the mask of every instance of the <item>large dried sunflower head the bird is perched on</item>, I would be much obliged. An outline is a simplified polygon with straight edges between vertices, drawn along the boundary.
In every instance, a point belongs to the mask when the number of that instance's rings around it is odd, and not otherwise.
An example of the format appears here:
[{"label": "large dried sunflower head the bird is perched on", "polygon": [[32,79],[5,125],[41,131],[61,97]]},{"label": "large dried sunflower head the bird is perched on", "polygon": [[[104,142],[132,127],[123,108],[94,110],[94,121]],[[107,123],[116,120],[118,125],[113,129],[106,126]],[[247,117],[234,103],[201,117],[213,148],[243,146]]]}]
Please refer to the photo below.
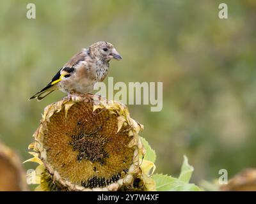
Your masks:
[{"label": "large dried sunflower head the bird is perched on", "polygon": [[145,154],[138,135],[142,129],[126,106],[100,96],[52,103],[30,145],[42,161],[39,173],[34,172],[40,176],[40,189],[47,180],[48,189],[55,185],[55,190],[116,191],[132,188],[138,179],[147,189],[152,180],[145,179],[140,168],[140,156]]}]

